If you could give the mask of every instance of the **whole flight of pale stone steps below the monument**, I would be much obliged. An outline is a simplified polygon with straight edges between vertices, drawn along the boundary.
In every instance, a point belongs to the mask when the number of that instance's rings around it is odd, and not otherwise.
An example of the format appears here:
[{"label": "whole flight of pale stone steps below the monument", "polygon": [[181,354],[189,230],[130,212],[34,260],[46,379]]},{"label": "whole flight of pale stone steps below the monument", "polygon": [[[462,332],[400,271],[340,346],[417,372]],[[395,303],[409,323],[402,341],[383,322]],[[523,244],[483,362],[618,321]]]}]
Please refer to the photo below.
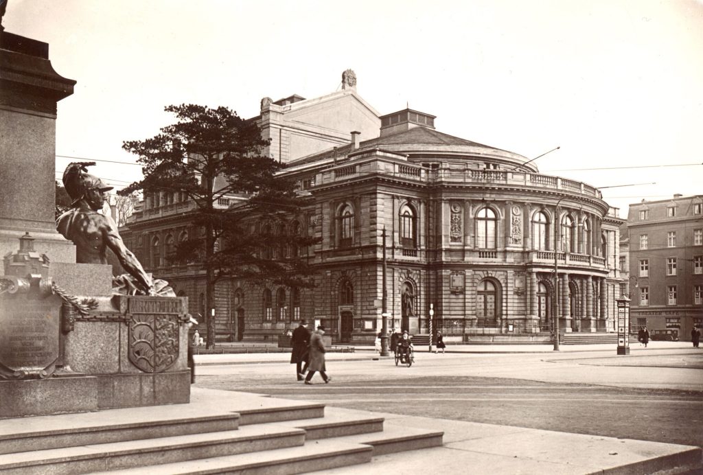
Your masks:
[{"label": "whole flight of pale stone steps below the monument", "polygon": [[0,421],[0,474],[297,474],[442,445],[363,411],[193,388],[191,403]]}]

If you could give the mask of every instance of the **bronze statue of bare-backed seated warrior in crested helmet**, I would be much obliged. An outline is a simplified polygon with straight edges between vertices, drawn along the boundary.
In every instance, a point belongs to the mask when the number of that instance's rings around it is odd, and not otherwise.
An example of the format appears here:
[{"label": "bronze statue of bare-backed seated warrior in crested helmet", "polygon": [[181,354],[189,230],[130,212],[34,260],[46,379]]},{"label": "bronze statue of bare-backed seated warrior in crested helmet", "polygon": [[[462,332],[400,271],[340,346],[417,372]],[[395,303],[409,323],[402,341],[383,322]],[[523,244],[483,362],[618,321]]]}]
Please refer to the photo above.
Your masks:
[{"label": "bronze statue of bare-backed seated warrior in crested helmet", "polygon": [[124,270],[129,273],[115,279],[117,287],[127,287],[127,292],[120,293],[155,295],[155,282],[144,271],[136,256],[124,246],[115,221],[110,216],[98,213],[107,199],[106,192],[112,190],[112,187],[97,176],[86,173],[86,167],[94,164],[95,162],[74,162],[63,172],[63,186],[73,202],[71,209],[56,220],[56,229],[75,244],[77,263],[106,264],[107,249],[114,252]]}]

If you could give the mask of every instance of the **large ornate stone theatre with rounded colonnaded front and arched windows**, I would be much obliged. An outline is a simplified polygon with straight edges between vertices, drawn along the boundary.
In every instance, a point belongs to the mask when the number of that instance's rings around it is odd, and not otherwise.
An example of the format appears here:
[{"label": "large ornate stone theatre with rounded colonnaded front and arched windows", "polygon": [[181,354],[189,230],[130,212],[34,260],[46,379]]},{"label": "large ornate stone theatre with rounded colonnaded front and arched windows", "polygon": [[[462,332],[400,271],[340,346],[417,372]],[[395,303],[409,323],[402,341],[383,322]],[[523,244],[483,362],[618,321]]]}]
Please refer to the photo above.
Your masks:
[{"label": "large ornate stone theatre with rounded colonnaded front and arched windows", "polygon": [[[432,308],[447,339],[548,341],[557,312],[562,332],[613,330],[623,220],[599,190],[442,134],[433,115],[379,116],[352,72],[343,86],[317,99],[262,100],[254,119],[271,138],[269,154],[309,202],[281,232],[320,238],[299,251],[318,272],[316,287],[220,282],[217,339],[271,339],[307,318],[336,341],[373,341],[384,309],[389,327],[418,334],[428,332]],[[164,259],[193,232],[191,209],[179,197],[147,197],[123,235],[202,314],[197,264]]]}]

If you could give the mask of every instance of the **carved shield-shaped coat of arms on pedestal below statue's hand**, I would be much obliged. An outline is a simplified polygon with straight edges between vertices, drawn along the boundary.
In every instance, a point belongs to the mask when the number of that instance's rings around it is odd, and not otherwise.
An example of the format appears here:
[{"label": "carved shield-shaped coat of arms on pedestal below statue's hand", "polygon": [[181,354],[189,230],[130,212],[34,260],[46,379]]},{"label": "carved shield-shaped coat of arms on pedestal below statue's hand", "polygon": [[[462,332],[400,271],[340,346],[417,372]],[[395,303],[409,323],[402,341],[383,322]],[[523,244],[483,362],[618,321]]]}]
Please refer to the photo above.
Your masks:
[{"label": "carved shield-shaped coat of arms on pedestal below statue's hand", "polygon": [[179,356],[178,315],[132,315],[129,360],[143,372],[162,372]]}]

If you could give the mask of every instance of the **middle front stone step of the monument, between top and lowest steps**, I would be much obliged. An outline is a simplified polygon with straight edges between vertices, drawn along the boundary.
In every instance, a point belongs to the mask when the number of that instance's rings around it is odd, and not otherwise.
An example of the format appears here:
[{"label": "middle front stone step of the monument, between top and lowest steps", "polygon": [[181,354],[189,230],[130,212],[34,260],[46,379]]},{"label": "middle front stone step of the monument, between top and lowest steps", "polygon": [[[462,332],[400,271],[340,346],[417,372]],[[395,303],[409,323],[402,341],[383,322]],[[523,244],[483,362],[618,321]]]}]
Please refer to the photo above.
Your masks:
[{"label": "middle front stone step of the monument, between top and lowest steps", "polygon": [[[305,431],[302,429],[262,424],[241,427],[235,431],[5,454],[0,455],[0,473],[63,475],[124,468],[144,470],[143,467],[151,465],[182,463],[251,452],[267,453],[304,443]],[[254,455],[255,457],[257,455]]]}]

